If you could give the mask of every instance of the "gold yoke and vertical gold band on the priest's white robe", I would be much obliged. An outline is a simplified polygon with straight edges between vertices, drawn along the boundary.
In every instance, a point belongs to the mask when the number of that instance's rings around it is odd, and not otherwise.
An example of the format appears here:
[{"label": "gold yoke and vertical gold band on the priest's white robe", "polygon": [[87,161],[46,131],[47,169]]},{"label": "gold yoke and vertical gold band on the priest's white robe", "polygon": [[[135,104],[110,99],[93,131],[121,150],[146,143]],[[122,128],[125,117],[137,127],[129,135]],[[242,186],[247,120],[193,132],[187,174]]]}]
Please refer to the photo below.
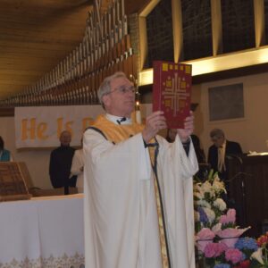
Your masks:
[{"label": "gold yoke and vertical gold band on the priest's white robe", "polygon": [[[100,130],[105,135],[105,138],[116,144],[127,138],[130,138],[131,136],[138,134],[144,129],[144,126],[135,122],[130,125],[129,124],[117,125],[114,124],[112,121],[107,120],[105,118],[105,115],[102,114],[96,118],[93,128]],[[158,144],[157,142],[153,141],[152,143],[148,144],[148,147],[149,147],[151,163],[154,169],[155,200],[158,215],[162,264],[163,268],[168,268],[170,267],[170,261],[167,247],[168,243],[167,243],[166,229],[164,228],[164,220],[163,220],[163,204],[161,200],[160,186],[156,176],[156,158],[157,158],[156,152],[158,150]]]}]

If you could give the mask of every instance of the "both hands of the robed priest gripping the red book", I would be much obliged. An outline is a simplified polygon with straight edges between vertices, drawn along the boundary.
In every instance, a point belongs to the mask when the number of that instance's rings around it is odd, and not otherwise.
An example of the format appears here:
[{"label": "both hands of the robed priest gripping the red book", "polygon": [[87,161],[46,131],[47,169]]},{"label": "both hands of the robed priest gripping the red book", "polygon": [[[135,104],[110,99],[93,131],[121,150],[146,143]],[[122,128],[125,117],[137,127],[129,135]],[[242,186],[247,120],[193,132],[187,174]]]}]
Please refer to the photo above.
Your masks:
[{"label": "both hands of the robed priest gripping the red book", "polygon": [[[164,130],[167,128],[167,123],[162,111],[157,111],[151,113],[147,116],[146,126],[142,131],[142,138],[146,143],[149,142],[151,138],[154,138],[159,130]],[[194,130],[194,115],[190,111],[189,116],[184,121],[184,129],[178,129],[178,135],[182,142],[187,142],[189,135],[192,134]]]}]

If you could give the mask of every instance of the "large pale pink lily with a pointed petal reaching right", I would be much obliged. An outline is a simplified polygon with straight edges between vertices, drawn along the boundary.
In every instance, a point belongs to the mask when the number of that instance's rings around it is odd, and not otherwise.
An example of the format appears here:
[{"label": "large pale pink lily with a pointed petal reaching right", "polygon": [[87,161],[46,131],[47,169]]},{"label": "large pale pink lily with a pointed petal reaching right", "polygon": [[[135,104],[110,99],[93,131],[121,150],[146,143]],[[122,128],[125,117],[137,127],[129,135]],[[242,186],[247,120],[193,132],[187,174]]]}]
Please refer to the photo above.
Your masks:
[{"label": "large pale pink lily with a pointed petal reaching right", "polygon": [[221,242],[227,247],[234,247],[239,239],[239,236],[249,228],[250,227],[245,229],[227,228],[217,231],[216,235],[222,239]]}]

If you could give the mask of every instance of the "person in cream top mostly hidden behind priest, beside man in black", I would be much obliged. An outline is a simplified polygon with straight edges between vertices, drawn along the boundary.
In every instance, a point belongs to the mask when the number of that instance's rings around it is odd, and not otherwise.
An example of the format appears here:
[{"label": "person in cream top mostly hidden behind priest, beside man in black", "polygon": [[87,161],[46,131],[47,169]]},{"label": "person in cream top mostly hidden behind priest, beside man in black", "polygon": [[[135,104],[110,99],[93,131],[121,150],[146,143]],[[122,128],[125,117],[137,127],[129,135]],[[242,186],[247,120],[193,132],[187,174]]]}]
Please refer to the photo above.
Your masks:
[{"label": "person in cream top mostly hidden behind priest, beside man in black", "polygon": [[79,193],[84,192],[84,153],[83,153],[83,139],[81,139],[82,147],[74,152],[71,162],[71,175],[77,176],[76,187]]}]

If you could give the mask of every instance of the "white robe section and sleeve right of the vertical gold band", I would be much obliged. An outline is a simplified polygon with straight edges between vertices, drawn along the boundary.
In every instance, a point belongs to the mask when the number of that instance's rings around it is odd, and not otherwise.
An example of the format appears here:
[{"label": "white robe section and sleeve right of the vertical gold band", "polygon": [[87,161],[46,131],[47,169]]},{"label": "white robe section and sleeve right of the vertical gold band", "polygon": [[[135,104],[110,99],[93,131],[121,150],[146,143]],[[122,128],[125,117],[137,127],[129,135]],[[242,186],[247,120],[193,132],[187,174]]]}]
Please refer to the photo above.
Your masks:
[{"label": "white robe section and sleeve right of the vertical gold band", "polygon": [[[174,143],[159,138],[158,174],[175,267],[195,267],[192,176],[198,164],[192,143],[188,156],[177,136]],[[187,246],[186,246],[187,245]]]}]

